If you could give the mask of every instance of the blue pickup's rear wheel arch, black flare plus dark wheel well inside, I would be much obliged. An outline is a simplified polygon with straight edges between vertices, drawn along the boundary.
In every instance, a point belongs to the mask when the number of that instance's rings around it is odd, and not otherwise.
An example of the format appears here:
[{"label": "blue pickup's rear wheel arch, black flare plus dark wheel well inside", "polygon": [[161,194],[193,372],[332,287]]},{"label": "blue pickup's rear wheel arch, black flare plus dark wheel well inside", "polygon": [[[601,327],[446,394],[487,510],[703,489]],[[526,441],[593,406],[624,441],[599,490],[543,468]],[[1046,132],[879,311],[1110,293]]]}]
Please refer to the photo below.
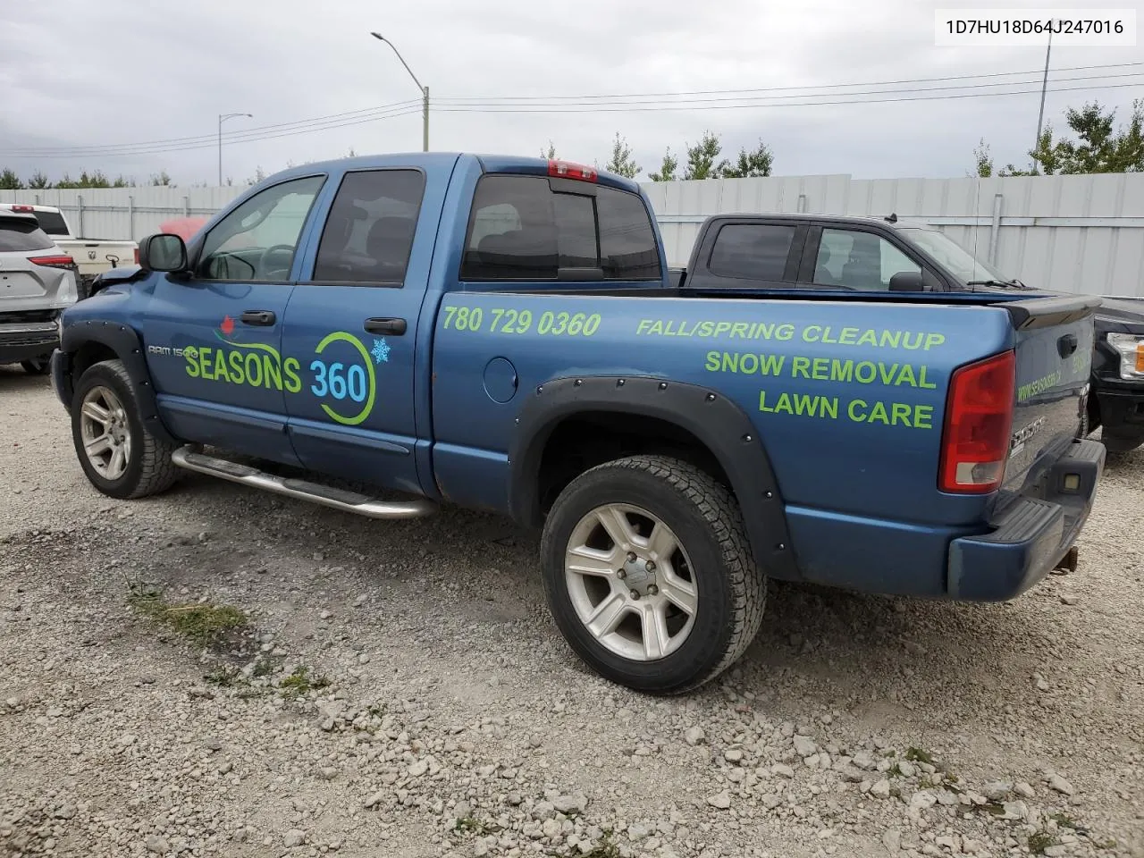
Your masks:
[{"label": "blue pickup's rear wheel arch, black flare plus dark wheel well inside", "polygon": [[[755,559],[769,575],[801,580],[763,440],[750,418],[717,391],[654,378],[557,379],[529,394],[516,429],[509,450],[509,507],[516,521],[542,524],[546,505],[604,461],[672,455],[728,486]],[[554,475],[554,463],[562,460],[564,472]]]}]

